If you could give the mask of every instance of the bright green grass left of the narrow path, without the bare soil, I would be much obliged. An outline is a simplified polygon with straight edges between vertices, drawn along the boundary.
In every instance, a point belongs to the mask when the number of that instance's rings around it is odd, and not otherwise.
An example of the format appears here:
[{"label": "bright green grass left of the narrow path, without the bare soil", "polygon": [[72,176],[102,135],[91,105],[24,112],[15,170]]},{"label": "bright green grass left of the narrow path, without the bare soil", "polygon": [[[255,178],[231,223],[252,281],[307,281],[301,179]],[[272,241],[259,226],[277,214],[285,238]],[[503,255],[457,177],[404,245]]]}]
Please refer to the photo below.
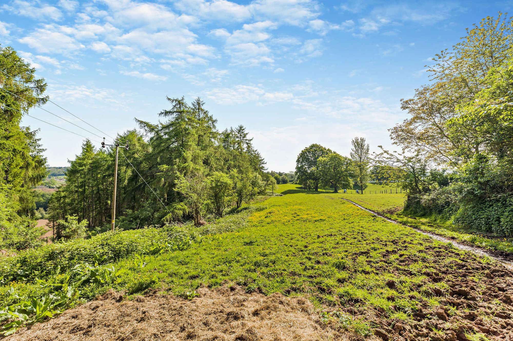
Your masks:
[{"label": "bright green grass left of the narrow path, without the bare soil", "polygon": [[433,297],[432,290],[447,290],[463,277],[477,283],[483,278],[487,260],[388,223],[340,200],[340,194],[308,193],[290,184],[279,191],[283,197],[268,199],[238,231],[145,257],[144,268],[139,259],[119,262],[116,268],[126,271],[119,289],[133,279],[153,278],[165,291],[188,297],[201,285],[226,281],[265,294],[307,293],[319,307],[373,312],[351,322],[365,329],[380,319],[413,323],[419,309],[456,316],[459,308]]}]

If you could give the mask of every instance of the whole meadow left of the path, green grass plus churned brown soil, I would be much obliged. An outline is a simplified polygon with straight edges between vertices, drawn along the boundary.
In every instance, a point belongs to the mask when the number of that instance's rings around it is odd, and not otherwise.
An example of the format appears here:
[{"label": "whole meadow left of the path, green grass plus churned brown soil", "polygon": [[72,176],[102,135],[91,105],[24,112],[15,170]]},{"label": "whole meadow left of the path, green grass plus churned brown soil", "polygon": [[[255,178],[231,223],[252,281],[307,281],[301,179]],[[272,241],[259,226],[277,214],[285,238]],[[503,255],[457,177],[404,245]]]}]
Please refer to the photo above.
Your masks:
[{"label": "whole meadow left of the path, green grass plus churned brown soil", "polygon": [[[389,223],[342,194],[290,184],[278,191],[241,219],[224,218],[235,222],[230,227],[189,234],[187,246],[106,264],[111,280],[95,293],[114,288],[133,298],[156,289],[191,300],[201,287],[235,284],[247,292],[306,296],[324,323],[361,337],[484,340],[511,332],[505,321],[513,313],[512,273],[501,265]],[[388,196],[361,197],[374,207],[380,200],[395,207],[399,196]],[[42,280],[29,277],[13,290],[35,293]],[[7,287],[4,302],[13,296]]]}]

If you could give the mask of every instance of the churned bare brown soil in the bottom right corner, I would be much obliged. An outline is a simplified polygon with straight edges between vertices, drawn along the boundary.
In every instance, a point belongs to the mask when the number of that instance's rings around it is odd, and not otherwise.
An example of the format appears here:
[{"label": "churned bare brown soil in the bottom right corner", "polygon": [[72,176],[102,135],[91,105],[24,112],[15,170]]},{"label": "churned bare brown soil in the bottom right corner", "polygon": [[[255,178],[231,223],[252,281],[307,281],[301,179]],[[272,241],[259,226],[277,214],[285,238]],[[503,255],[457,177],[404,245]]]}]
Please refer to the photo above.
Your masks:
[{"label": "churned bare brown soil in the bottom right corner", "polygon": [[[439,246],[428,246],[426,250],[433,257],[444,254]],[[423,291],[424,296],[440,303],[438,308],[433,308],[426,299],[410,295],[410,299],[418,300],[415,309],[408,312],[414,322],[384,318],[382,308],[363,308],[358,299],[349,301],[340,310],[365,316],[366,321],[376,326],[374,334],[384,340],[513,341],[513,271],[497,263],[483,264],[468,253],[458,258],[463,262],[433,262],[430,270],[404,273],[426,276],[412,289]],[[416,261],[410,257],[401,260],[404,264]],[[401,283],[389,280],[386,285],[398,289]],[[400,299],[401,296],[387,297],[390,302]],[[400,305],[392,309],[405,311]]]}]

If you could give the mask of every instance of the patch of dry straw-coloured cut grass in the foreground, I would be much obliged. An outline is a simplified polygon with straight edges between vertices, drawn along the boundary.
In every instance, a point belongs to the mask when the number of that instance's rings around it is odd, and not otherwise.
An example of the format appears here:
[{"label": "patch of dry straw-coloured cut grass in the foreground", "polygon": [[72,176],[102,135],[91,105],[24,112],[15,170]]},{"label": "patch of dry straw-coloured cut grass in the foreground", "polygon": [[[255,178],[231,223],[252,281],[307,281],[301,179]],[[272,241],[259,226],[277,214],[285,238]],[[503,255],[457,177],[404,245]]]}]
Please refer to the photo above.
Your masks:
[{"label": "patch of dry straw-coloured cut grass in the foreground", "polygon": [[188,301],[171,295],[123,296],[107,292],[6,340],[350,340],[323,328],[304,297],[245,293],[237,286],[200,288]]}]

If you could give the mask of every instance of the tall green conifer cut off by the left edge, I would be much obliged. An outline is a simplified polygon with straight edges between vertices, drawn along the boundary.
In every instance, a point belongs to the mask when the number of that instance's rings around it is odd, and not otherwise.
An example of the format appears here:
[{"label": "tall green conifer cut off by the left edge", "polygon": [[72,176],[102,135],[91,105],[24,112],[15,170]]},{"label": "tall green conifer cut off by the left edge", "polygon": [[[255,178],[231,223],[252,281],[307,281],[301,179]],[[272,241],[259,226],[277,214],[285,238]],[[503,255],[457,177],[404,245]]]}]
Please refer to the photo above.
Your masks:
[{"label": "tall green conifer cut off by the left edge", "polygon": [[22,81],[0,75],[0,185],[9,186],[17,214],[31,216],[35,210],[31,188],[46,177],[46,158],[37,131],[20,124],[22,113],[47,101],[42,96],[47,84],[10,47],[0,47],[0,70]]}]

